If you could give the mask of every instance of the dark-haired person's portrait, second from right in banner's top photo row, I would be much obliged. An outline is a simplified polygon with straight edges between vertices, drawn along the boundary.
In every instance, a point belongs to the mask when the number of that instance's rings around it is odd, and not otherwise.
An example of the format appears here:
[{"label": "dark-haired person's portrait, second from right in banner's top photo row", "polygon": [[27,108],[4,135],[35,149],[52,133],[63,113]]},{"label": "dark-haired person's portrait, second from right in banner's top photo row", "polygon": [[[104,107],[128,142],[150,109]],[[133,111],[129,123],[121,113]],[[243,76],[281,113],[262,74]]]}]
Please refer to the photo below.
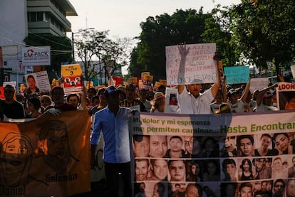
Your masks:
[{"label": "dark-haired person's portrait, second from right in banner's top photo row", "polygon": [[254,149],[255,156],[274,156],[278,155],[279,151],[276,149],[269,149],[269,146],[272,145],[272,139],[270,134],[262,134],[262,137],[259,139],[258,149]]}]

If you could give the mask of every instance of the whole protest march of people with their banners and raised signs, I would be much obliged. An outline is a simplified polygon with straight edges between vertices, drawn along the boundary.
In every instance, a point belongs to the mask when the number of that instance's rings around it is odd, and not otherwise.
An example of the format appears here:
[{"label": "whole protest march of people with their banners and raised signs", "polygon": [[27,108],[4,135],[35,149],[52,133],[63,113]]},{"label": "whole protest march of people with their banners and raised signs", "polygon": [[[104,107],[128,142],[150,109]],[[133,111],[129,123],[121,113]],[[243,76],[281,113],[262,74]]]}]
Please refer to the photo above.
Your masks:
[{"label": "whole protest march of people with their banners and raised signs", "polygon": [[295,84],[222,68],[215,43],[165,50],[156,82],[95,87],[69,64],[52,82],[41,71],[4,83],[0,196],[87,195],[102,179],[135,197],[292,196]]}]

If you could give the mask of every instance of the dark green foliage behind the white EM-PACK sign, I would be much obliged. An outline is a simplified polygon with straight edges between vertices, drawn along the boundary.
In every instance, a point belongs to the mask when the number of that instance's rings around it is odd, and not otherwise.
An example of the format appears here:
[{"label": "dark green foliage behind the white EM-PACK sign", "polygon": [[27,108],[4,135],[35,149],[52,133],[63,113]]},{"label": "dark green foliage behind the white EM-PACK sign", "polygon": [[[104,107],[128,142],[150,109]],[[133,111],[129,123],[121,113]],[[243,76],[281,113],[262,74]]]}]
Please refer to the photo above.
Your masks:
[{"label": "dark green foliage behind the white EM-PACK sign", "polygon": [[61,75],[61,63],[72,61],[71,40],[66,36],[29,33],[29,36],[24,38],[24,43],[28,46],[51,46],[51,66],[47,66],[46,69],[48,71],[55,70],[58,75]]}]

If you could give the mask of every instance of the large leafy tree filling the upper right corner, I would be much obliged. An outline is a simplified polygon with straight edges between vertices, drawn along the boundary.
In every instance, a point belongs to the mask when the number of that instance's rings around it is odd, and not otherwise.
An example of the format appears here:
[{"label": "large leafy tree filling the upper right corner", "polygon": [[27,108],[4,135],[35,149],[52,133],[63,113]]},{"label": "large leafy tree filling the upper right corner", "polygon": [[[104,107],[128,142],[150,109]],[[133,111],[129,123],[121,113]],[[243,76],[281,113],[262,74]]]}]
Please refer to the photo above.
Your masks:
[{"label": "large leafy tree filling the upper right corner", "polygon": [[274,63],[276,74],[294,58],[295,1],[242,0],[230,9],[231,43],[259,68]]}]

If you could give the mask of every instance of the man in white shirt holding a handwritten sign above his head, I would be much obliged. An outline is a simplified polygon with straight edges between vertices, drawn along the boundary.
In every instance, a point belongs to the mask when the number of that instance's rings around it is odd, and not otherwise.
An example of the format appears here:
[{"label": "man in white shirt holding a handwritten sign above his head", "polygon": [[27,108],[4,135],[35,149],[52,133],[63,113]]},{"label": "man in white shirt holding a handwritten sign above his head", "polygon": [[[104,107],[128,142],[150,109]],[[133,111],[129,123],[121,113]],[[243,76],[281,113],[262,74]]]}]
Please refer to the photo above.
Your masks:
[{"label": "man in white shirt holding a handwritten sign above his head", "polygon": [[[180,45],[178,50],[181,56],[180,59],[180,70],[185,69],[187,55],[190,53],[190,47]],[[213,58],[212,58],[213,61]],[[216,68],[217,69],[217,68]],[[198,70],[198,69],[197,69]],[[199,73],[198,73],[199,74]],[[217,82],[214,82],[212,87],[209,90],[201,93],[202,84],[200,80],[193,80],[190,84],[179,84],[178,85],[178,99],[180,104],[180,113],[181,114],[210,114],[210,104],[214,97],[217,95],[217,92],[220,87],[220,78],[217,72]]]}]

